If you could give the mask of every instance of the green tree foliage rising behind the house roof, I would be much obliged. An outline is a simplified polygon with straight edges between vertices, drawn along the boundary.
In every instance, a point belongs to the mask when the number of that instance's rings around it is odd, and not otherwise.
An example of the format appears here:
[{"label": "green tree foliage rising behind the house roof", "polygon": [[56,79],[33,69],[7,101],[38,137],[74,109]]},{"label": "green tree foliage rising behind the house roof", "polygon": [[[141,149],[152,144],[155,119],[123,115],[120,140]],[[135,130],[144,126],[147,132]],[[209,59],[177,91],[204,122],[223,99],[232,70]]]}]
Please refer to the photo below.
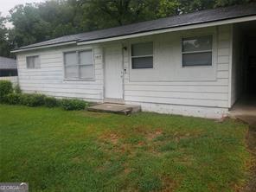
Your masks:
[{"label": "green tree foliage rising behind the house roof", "polygon": [[17,5],[6,29],[0,14],[0,55],[10,49],[62,35],[176,16],[197,10],[247,3],[250,0],[48,0]]}]

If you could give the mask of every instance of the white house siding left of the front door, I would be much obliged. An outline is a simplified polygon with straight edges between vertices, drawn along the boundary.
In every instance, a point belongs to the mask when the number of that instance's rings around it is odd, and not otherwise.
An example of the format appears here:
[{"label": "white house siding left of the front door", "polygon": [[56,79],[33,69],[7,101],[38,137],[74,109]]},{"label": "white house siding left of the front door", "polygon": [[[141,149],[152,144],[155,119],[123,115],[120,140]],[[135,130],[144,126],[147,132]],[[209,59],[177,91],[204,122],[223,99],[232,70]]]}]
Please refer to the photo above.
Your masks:
[{"label": "white house siding left of the front door", "polygon": [[[63,52],[93,48],[95,80],[64,80]],[[40,68],[26,67],[26,56],[39,55]],[[19,84],[25,93],[44,93],[60,98],[79,98],[91,101],[103,99],[102,49],[73,46],[29,51],[17,55]]]}]

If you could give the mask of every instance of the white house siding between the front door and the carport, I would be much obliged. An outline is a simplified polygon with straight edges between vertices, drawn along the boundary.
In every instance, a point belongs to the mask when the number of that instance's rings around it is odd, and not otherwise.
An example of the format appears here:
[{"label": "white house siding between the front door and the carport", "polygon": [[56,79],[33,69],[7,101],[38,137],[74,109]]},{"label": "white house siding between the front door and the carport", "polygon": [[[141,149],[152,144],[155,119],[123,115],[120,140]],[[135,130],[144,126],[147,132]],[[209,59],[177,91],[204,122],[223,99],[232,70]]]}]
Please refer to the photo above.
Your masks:
[{"label": "white house siding between the front door and the carport", "polygon": [[[229,105],[231,25],[172,32],[124,43],[125,102],[144,111],[221,118]],[[182,67],[182,37],[214,35],[212,67]],[[131,69],[130,44],[154,42],[154,68]]]}]

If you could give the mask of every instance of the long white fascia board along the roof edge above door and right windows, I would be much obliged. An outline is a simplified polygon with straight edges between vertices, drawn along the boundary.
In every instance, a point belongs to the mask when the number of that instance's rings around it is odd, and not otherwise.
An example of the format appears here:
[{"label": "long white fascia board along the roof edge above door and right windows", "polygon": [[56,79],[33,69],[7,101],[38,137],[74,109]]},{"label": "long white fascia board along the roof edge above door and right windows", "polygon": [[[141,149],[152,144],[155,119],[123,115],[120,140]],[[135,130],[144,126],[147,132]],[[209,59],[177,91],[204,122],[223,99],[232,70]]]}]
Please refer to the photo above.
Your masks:
[{"label": "long white fascia board along the roof edge above door and right windows", "polygon": [[139,36],[145,36],[145,35],[156,35],[156,34],[162,34],[162,33],[179,31],[179,30],[206,28],[206,27],[212,27],[216,25],[224,25],[224,24],[230,24],[235,22],[249,22],[249,21],[255,21],[255,20],[256,20],[256,16],[246,16],[246,17],[240,17],[235,19],[227,19],[227,20],[218,21],[218,22],[198,23],[198,24],[191,24],[191,25],[182,26],[182,27],[173,27],[170,29],[158,29],[158,30],[153,30],[149,32],[133,34],[133,35],[121,35],[117,37],[110,37],[110,38],[104,38],[104,39],[87,41],[87,42],[77,42],[77,44],[86,45],[86,44],[93,44],[93,43],[99,43],[99,42],[112,42],[112,41],[124,40],[124,39],[139,37]]}]

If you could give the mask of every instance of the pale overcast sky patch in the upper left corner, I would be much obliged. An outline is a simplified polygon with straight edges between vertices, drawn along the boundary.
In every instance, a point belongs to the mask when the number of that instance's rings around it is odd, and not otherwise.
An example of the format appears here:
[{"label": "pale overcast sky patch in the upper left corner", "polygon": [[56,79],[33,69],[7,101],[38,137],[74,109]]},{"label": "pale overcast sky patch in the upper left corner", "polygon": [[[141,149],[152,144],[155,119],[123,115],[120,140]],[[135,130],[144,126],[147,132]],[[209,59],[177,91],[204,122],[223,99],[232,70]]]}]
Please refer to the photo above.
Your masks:
[{"label": "pale overcast sky patch in the upper left corner", "polygon": [[[0,12],[2,16],[9,15],[9,10],[14,8],[17,4],[25,3],[40,3],[46,0],[0,0]],[[7,27],[11,27],[10,23],[7,23]]]}]

